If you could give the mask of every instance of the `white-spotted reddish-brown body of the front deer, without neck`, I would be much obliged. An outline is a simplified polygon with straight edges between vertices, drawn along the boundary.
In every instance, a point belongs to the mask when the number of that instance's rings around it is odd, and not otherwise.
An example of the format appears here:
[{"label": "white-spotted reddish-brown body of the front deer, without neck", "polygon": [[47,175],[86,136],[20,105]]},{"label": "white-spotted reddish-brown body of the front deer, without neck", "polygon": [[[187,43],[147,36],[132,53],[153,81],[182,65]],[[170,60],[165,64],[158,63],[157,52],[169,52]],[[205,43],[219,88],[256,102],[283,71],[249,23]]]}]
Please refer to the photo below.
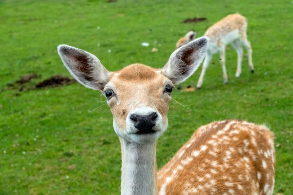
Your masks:
[{"label": "white-spotted reddish-brown body of the front deer, without neck", "polygon": [[273,135],[225,120],[201,126],[159,170],[159,195],[272,195]]}]

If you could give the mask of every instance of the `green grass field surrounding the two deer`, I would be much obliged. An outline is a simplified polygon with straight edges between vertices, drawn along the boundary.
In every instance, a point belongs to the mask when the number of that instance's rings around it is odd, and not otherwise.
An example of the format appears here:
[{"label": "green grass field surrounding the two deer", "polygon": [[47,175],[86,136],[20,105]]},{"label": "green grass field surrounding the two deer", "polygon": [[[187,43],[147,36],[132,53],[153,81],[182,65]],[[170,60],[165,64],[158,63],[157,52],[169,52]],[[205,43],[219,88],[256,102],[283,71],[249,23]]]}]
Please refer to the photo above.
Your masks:
[{"label": "green grass field surrounding the two deer", "polygon": [[[187,108],[171,103],[169,128],[158,142],[158,167],[200,125],[226,118],[265,123],[275,134],[274,193],[292,195],[291,0],[0,1],[0,195],[120,194],[120,143],[100,92],[78,83],[19,92],[7,83],[31,73],[42,75],[31,85],[56,74],[70,76],[57,54],[62,43],[95,54],[112,71],[135,62],[163,67],[188,30],[203,35],[235,12],[249,19],[255,74],[244,56],[242,75],[234,78],[237,55],[228,47],[228,85],[214,55],[201,90],[175,91],[173,98]],[[208,20],[181,23],[193,17]],[[184,88],[195,87],[200,70]]]}]

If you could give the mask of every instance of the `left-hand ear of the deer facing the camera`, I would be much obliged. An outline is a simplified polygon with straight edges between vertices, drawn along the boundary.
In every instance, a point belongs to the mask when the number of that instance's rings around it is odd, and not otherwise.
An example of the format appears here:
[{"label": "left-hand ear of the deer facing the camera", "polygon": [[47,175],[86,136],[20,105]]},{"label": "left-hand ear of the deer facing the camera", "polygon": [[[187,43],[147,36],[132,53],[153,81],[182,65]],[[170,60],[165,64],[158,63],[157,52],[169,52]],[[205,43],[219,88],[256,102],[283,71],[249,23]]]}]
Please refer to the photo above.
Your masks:
[{"label": "left-hand ear of the deer facing the camera", "polygon": [[87,88],[104,90],[109,81],[109,72],[96,56],[69,45],[59,45],[57,49],[73,78]]}]

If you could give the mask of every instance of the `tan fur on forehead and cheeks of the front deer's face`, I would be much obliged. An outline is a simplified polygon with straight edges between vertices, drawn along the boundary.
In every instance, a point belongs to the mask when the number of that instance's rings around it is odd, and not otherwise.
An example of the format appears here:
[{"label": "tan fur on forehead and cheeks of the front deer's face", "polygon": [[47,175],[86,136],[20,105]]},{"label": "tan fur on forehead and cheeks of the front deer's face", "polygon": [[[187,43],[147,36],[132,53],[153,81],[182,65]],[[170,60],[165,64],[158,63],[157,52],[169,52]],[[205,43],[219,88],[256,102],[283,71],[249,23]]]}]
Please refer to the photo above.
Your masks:
[{"label": "tan fur on forehead and cheeks of the front deer's face", "polygon": [[112,73],[109,83],[115,86],[118,97],[110,99],[109,106],[118,125],[125,128],[127,114],[139,104],[157,109],[165,125],[170,102],[170,97],[164,94],[166,81],[167,78],[156,69],[143,64],[131,64]]}]

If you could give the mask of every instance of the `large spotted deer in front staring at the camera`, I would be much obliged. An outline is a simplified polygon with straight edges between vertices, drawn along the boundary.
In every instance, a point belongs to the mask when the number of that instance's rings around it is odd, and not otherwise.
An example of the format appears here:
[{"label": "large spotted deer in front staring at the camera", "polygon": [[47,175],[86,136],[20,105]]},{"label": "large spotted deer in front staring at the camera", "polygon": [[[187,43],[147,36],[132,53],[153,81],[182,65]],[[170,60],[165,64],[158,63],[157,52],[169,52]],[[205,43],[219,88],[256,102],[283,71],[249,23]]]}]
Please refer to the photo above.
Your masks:
[{"label": "large spotted deer in front staring at the camera", "polygon": [[101,91],[110,107],[121,144],[121,195],[272,195],[273,134],[247,121],[201,126],[157,171],[156,143],[167,130],[174,85],[198,69],[207,48],[208,38],[198,38],[174,51],[161,69],[135,63],[110,72],[93,54],[58,46],[73,78]]}]

